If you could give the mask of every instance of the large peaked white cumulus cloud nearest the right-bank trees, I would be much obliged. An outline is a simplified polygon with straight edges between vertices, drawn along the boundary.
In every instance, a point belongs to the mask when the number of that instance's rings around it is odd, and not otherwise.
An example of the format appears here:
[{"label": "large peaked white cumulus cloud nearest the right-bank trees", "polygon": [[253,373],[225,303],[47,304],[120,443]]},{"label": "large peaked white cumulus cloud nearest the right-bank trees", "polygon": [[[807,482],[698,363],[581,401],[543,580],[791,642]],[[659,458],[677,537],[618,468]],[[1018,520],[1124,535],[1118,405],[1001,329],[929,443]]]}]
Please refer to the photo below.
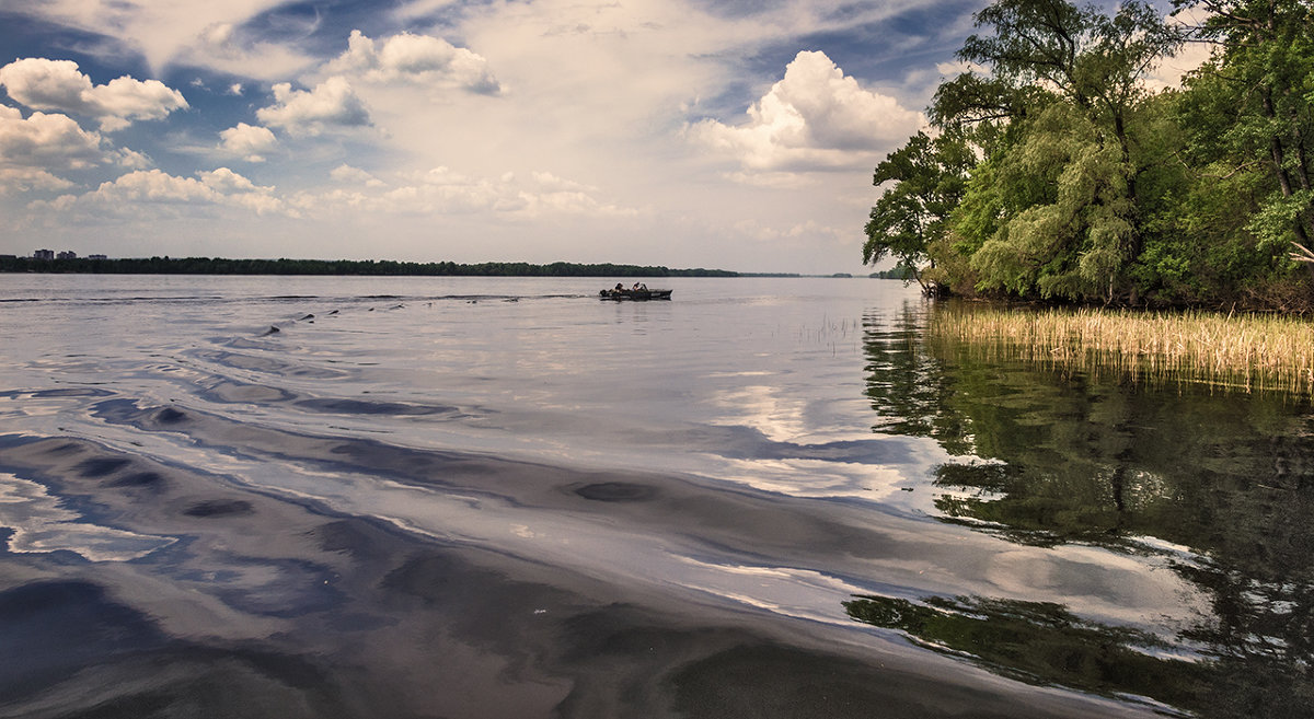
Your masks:
[{"label": "large peaked white cumulus cloud nearest the right-bank trees", "polygon": [[863,89],[815,51],[799,52],[748,115],[737,126],[704,119],[687,133],[746,169],[795,171],[865,167],[871,154],[896,147],[926,123],[921,113]]}]

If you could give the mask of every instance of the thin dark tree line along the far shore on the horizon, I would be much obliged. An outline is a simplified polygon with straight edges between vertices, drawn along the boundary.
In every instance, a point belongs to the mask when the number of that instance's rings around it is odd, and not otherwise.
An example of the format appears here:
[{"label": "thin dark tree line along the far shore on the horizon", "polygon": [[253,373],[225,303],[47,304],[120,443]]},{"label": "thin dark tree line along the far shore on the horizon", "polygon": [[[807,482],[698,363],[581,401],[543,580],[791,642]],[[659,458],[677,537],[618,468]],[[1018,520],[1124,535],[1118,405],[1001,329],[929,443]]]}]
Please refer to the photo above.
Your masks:
[{"label": "thin dark tree line along the far shore on the horizon", "polygon": [[229,260],[223,257],[126,257],[116,260],[0,257],[0,272],[91,274],[328,274],[417,277],[737,277],[717,269],[552,262],[397,262],[392,260]]}]

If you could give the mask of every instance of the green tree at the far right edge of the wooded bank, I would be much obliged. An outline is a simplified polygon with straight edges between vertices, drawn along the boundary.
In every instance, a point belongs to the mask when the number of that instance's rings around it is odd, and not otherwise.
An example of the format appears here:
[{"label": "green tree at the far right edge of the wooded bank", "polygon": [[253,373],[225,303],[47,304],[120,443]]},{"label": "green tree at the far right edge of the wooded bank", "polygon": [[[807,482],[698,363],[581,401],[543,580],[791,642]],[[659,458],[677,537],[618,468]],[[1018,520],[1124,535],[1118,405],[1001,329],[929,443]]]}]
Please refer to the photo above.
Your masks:
[{"label": "green tree at the far right edge of the wooded bank", "polygon": [[[1251,206],[1244,223],[1217,237],[1233,257],[1244,257],[1261,287],[1294,282],[1292,243],[1314,239],[1314,4],[1309,0],[1206,0],[1208,20],[1197,39],[1214,43],[1214,56],[1187,81],[1181,118],[1188,134],[1185,161],[1197,169],[1196,195],[1218,185],[1243,190]],[[1226,198],[1231,199],[1231,198]],[[1234,203],[1234,202],[1229,202]],[[1208,203],[1189,207],[1194,214]],[[1314,265],[1307,265],[1314,277]],[[1314,302],[1309,279],[1300,282],[1305,304]],[[1284,304],[1293,298],[1273,298]]]}]

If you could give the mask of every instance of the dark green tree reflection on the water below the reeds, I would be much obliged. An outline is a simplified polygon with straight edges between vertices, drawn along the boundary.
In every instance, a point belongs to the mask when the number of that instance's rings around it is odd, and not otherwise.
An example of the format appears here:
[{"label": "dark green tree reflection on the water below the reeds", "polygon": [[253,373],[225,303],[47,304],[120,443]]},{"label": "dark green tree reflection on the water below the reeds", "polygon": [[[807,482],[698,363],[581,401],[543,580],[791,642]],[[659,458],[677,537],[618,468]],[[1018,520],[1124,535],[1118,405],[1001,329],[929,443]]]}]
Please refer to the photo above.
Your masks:
[{"label": "dark green tree reflection on the water below the reeds", "polygon": [[[924,340],[909,304],[865,327],[874,430],[937,440],[937,518],[1031,546],[1189,548],[1176,572],[1212,615],[1204,660],[1063,606],[861,597],[855,619],[968,652],[1010,676],[1156,698],[1204,716],[1314,715],[1314,409],[1309,398],[1063,373],[1000,348]],[[1154,538],[1160,542],[1146,542]]]}]

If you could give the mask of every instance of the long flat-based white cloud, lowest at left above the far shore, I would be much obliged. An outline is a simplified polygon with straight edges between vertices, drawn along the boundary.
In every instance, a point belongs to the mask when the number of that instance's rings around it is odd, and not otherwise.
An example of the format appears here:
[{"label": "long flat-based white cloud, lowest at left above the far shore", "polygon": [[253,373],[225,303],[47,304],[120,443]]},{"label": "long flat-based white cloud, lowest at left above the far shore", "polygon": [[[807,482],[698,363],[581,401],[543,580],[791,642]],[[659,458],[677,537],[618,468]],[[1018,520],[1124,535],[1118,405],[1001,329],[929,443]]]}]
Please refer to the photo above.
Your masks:
[{"label": "long flat-based white cloud, lowest at left above the far shore", "polygon": [[177,177],[159,169],[129,172],[85,194],[66,194],[30,205],[32,209],[60,211],[95,207],[97,214],[108,210],[131,216],[141,216],[145,206],[183,210],[226,206],[259,215],[288,213],[273,188],[259,186],[229,168],[200,172],[196,177]]}]

